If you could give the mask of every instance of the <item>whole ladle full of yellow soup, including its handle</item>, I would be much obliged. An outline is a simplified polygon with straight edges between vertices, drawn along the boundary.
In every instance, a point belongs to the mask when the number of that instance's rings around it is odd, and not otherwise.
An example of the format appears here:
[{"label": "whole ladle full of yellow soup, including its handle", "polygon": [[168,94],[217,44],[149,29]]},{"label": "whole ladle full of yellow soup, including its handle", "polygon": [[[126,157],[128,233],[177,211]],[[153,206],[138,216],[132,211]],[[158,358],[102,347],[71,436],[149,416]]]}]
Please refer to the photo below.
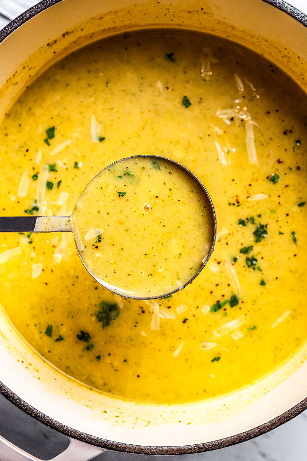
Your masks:
[{"label": "whole ladle full of yellow soup, including its handle", "polygon": [[174,160],[137,155],[105,167],[71,216],[1,217],[0,232],[72,232],[87,271],[134,299],[182,290],[213,251],[216,217],[200,180]]}]

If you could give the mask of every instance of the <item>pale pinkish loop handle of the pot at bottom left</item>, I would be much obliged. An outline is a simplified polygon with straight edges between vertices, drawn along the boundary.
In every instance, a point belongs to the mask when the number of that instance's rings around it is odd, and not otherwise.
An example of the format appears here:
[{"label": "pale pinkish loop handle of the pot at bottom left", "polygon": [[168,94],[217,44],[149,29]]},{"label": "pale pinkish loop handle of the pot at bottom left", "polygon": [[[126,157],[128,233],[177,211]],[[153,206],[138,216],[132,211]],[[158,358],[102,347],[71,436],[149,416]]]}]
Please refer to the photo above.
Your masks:
[{"label": "pale pinkish loop handle of the pot at bottom left", "polygon": [[[105,451],[104,448],[95,447],[88,443],[80,442],[75,438],[68,437],[70,444],[66,450],[50,461],[90,461]],[[41,461],[18,448],[13,443],[0,436],[1,461]]]}]

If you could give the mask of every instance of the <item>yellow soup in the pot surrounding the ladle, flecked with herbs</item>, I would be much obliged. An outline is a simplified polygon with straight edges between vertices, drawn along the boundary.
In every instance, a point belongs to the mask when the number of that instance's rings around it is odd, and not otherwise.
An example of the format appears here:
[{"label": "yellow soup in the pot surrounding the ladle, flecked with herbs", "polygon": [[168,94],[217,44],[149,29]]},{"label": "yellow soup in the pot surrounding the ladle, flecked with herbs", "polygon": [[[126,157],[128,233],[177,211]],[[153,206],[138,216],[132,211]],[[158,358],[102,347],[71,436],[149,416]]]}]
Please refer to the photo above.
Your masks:
[{"label": "yellow soup in the pot surrounding the ladle, flecked with herbs", "polygon": [[1,213],[68,215],[105,166],[156,154],[206,185],[217,242],[191,285],[145,302],[100,286],[70,233],[2,234],[13,324],[70,376],[139,401],[209,399],[280,366],[307,336],[306,109],[274,65],[206,35],[144,32],[53,65],[2,121]]}]

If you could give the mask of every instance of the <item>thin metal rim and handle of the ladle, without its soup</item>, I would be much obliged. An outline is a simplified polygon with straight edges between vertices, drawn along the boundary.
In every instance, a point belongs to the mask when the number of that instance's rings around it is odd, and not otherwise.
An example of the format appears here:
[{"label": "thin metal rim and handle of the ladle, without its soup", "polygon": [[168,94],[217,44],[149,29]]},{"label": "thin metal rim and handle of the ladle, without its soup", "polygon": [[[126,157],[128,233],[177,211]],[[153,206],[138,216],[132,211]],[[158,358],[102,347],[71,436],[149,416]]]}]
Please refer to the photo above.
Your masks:
[{"label": "thin metal rim and handle of the ladle, without its soup", "polygon": [[[203,183],[195,176],[190,170],[188,170],[185,166],[180,165],[180,163],[175,162],[174,160],[170,160],[166,157],[160,157],[156,155],[135,155],[132,157],[127,157],[125,159],[117,160],[116,162],[111,163],[110,165],[106,166],[101,170],[98,175],[107,168],[114,166],[117,162],[121,162],[122,160],[128,160],[132,158],[141,158],[141,157],[149,157],[152,160],[166,160],[169,163],[175,165],[182,169],[185,173],[190,175],[193,180],[200,186],[200,189],[203,191],[204,197],[209,204],[210,208],[210,227],[211,227],[211,245],[208,254],[205,254],[202,260],[202,266],[198,269],[198,271],[189,279],[185,284],[182,284],[180,287],[176,288],[175,290],[170,291],[169,293],[163,293],[157,296],[132,296],[127,293],[122,293],[121,291],[117,291],[116,287],[114,289],[110,288],[109,284],[104,283],[103,280],[98,279],[95,275],[89,270],[87,265],[85,264],[84,260],[82,259],[82,251],[78,248],[77,241],[75,238],[75,246],[80,256],[80,259],[87,269],[87,271],[92,275],[95,280],[98,281],[99,284],[103,285],[108,290],[112,291],[121,296],[125,296],[127,298],[132,299],[157,299],[160,297],[165,297],[174,294],[177,291],[183,290],[186,285],[190,284],[197,275],[203,270],[204,266],[206,266],[212,252],[214,249],[215,238],[216,238],[216,215],[214,210],[214,205],[212,203],[211,197],[204,187]],[[92,179],[92,181],[97,177],[97,175]],[[90,183],[92,182],[90,181]],[[88,183],[88,184],[90,184]],[[85,188],[86,189],[86,188]],[[84,190],[85,190],[84,189]],[[84,191],[83,191],[84,192]],[[82,192],[82,194],[83,194]],[[70,216],[10,216],[10,217],[0,217],[0,232],[33,232],[33,233],[42,233],[42,232],[72,232],[74,237],[76,235],[76,229],[74,228],[74,221],[71,219]]]}]

